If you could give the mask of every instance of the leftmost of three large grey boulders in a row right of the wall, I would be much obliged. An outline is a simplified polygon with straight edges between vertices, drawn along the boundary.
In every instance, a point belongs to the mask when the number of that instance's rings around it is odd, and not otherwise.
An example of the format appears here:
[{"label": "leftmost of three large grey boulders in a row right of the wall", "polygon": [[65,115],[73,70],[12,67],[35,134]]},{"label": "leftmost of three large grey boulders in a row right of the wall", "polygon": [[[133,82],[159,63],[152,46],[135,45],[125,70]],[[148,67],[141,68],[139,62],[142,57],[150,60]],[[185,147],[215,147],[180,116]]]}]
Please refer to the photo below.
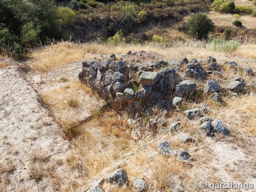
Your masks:
[{"label": "leftmost of three large grey boulders in a row right of the wall", "polygon": [[195,90],[196,83],[190,80],[185,80],[176,85],[176,94],[178,96],[185,96],[188,93],[191,93]]}]

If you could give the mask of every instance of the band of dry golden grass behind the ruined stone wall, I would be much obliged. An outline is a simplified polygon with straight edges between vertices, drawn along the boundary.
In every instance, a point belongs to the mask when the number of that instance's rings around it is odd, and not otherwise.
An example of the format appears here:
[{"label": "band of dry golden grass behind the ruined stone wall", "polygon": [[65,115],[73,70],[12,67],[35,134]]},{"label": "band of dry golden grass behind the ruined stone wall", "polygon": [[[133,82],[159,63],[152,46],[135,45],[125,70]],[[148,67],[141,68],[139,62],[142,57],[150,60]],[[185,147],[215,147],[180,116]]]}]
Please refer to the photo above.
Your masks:
[{"label": "band of dry golden grass behind the ruined stone wall", "polygon": [[[205,44],[200,41],[188,41],[186,43],[177,41],[172,47],[167,48],[162,47],[159,44],[121,44],[113,46],[110,44],[76,44],[71,42],[60,42],[47,46],[40,51],[33,52],[30,55],[30,58],[36,60],[36,63],[32,66],[32,70],[46,72],[55,68],[61,68],[63,65],[72,62],[92,59],[93,56],[98,56],[99,54],[108,57],[108,54],[124,53],[128,50],[149,50],[163,55],[166,60],[180,60],[183,57],[187,57],[188,60],[194,57],[204,59],[210,55],[215,58],[220,57],[226,60],[232,58],[234,61],[236,61],[236,56],[239,56],[239,58],[242,59],[252,60],[255,59],[255,46],[255,44],[243,44],[239,46],[236,51],[226,54],[225,52],[213,51],[211,44]],[[192,54],[188,54],[189,51],[192,52]]]}]

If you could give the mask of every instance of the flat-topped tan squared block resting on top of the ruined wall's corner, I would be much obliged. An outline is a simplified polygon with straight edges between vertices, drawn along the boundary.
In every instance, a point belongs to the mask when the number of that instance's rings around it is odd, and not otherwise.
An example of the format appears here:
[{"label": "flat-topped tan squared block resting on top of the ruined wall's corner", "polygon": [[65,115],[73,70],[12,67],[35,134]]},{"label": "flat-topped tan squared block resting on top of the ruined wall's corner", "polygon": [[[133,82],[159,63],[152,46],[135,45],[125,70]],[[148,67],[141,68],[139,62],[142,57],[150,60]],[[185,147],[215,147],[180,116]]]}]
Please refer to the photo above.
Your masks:
[{"label": "flat-topped tan squared block resting on top of the ruined wall's corner", "polygon": [[161,76],[158,72],[143,72],[140,75],[140,84],[143,87],[154,85],[160,79],[160,77]]}]

